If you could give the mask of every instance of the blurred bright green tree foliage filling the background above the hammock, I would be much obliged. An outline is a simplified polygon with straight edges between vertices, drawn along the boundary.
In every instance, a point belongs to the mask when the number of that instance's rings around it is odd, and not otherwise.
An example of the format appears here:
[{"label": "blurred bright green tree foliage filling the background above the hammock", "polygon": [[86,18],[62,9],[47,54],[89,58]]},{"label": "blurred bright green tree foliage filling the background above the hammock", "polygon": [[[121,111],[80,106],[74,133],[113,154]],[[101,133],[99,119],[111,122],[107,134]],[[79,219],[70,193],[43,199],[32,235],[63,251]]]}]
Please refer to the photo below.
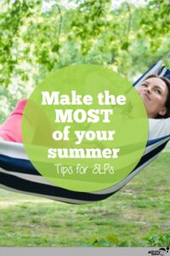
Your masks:
[{"label": "blurred bright green tree foliage filling the background above the hammock", "polygon": [[167,53],[169,2],[116,2],[1,1],[0,122],[54,68],[92,63],[133,80]]}]

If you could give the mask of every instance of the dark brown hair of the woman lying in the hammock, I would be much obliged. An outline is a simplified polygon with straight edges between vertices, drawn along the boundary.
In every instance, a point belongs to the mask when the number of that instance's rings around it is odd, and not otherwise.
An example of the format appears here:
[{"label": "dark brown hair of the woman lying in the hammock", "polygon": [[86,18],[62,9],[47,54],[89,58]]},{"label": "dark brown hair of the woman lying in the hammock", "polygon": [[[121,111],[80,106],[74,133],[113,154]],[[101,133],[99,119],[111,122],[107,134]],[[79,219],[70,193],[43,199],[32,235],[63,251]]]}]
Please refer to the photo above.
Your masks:
[{"label": "dark brown hair of the woman lying in the hammock", "polygon": [[167,92],[167,101],[165,102],[165,107],[167,108],[167,113],[165,113],[163,116],[161,116],[160,114],[158,114],[156,116],[156,119],[167,119],[170,117],[170,80],[168,80],[165,77],[159,77],[157,74],[151,74],[144,80],[151,79],[151,78],[161,79],[167,85],[167,91],[168,91]]}]

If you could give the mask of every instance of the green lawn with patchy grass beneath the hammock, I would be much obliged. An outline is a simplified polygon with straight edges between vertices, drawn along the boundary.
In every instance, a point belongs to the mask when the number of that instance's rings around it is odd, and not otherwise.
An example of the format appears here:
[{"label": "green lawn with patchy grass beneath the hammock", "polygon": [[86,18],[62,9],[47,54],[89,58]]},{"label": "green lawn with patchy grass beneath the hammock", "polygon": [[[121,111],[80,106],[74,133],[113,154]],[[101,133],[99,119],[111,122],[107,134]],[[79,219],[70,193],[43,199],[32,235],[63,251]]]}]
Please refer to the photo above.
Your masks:
[{"label": "green lawn with patchy grass beneath the hammock", "polygon": [[0,190],[0,246],[169,246],[170,153],[116,195],[74,206]]}]

